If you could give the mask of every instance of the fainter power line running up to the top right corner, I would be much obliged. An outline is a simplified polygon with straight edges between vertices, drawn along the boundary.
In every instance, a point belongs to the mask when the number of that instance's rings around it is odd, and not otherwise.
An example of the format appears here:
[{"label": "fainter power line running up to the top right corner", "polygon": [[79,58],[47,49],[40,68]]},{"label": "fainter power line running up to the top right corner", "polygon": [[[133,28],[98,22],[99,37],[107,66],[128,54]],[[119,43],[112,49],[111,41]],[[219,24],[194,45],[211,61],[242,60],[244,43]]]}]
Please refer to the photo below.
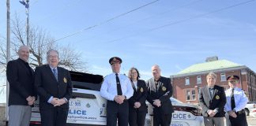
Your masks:
[{"label": "fainter power line running up to the top right corner", "polygon": [[174,24],[179,24],[179,23],[186,22],[187,20],[193,20],[193,19],[196,19],[198,17],[204,17],[204,16],[212,14],[212,13],[218,13],[220,11],[223,11],[223,10],[226,10],[226,9],[231,9],[231,8],[233,8],[235,6],[244,5],[244,4],[247,4],[248,2],[253,2],[253,1],[255,1],[255,0],[250,0],[250,1],[247,1],[247,2],[239,2],[238,4],[235,4],[235,5],[232,5],[232,6],[227,6],[227,7],[221,8],[221,9],[216,9],[216,10],[213,10],[213,11],[211,11],[209,13],[203,13],[203,14],[199,14],[198,16],[189,17],[189,18],[186,18],[186,19],[183,19],[183,20],[177,20],[177,21],[172,22],[170,24],[164,24],[162,26],[159,26],[159,27],[156,27],[156,28],[151,28],[151,29],[146,30],[146,31],[137,32],[136,34],[126,35],[126,36],[124,36],[122,38],[119,38],[119,39],[112,39],[110,41],[107,41],[107,43],[114,43],[114,42],[116,42],[118,40],[126,39],[126,38],[129,38],[131,36],[140,35],[142,33],[149,32],[149,31],[155,31],[155,30],[158,30],[160,28],[165,28],[165,27],[168,27],[168,26],[171,26],[171,25],[174,25]]}]

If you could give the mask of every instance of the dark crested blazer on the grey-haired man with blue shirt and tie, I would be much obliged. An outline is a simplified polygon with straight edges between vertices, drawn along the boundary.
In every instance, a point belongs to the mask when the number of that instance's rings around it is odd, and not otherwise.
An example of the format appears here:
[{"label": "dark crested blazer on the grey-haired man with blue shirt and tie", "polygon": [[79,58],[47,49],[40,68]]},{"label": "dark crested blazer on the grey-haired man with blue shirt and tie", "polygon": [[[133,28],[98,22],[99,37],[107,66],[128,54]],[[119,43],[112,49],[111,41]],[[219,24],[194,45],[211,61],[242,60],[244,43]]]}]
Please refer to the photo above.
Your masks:
[{"label": "dark crested blazer on the grey-haired man with blue shirt and tie", "polygon": [[[68,101],[72,95],[72,83],[70,72],[61,67],[58,69],[58,81],[55,79],[49,65],[36,67],[35,86],[38,95],[40,96],[40,109],[51,109],[54,106],[47,101],[51,96],[54,98],[66,98]],[[69,108],[69,102],[60,106]]]}]

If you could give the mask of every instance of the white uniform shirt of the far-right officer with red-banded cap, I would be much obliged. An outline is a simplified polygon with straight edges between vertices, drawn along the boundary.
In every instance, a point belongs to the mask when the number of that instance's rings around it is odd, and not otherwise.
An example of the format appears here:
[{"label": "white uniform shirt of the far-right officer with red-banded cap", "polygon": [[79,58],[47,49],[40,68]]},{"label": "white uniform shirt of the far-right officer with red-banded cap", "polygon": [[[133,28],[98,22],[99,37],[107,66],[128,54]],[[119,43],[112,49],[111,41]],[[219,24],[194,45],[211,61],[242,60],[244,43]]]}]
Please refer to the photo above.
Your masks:
[{"label": "white uniform shirt of the far-right officer with red-banded cap", "polygon": [[[232,88],[229,88],[227,91],[225,91],[226,97],[227,97],[227,103],[224,106],[225,111],[231,111],[231,98],[232,98]],[[235,112],[238,112],[247,106],[248,98],[247,95],[244,94],[244,91],[238,87],[235,87],[234,90],[234,98],[235,98]]]}]

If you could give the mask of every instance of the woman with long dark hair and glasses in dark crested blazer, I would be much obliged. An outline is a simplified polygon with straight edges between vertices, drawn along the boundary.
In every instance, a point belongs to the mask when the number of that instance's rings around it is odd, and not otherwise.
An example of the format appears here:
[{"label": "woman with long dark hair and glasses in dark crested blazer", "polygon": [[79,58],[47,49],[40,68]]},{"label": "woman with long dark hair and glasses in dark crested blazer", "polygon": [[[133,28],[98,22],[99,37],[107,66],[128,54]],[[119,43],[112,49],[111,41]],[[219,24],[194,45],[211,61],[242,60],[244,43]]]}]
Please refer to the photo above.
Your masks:
[{"label": "woman with long dark hair and glasses in dark crested blazer", "polygon": [[145,100],[147,98],[147,87],[144,80],[138,80],[140,73],[136,68],[131,68],[129,78],[134,88],[134,95],[129,98],[129,125],[144,126],[147,106]]}]

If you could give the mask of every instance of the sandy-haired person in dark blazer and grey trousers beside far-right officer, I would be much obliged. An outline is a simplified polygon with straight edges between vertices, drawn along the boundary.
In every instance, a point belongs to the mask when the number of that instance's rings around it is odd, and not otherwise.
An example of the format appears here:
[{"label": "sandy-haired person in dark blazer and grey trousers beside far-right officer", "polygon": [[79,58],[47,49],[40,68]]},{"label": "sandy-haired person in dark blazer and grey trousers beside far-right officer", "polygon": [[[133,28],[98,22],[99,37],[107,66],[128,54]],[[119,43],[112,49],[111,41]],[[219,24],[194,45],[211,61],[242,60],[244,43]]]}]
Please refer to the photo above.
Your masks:
[{"label": "sandy-haired person in dark blazer and grey trousers beside far-right officer", "polygon": [[227,101],[224,87],[215,85],[216,74],[214,72],[209,72],[206,80],[207,85],[201,87],[199,94],[205,126],[224,126],[224,106]]}]

